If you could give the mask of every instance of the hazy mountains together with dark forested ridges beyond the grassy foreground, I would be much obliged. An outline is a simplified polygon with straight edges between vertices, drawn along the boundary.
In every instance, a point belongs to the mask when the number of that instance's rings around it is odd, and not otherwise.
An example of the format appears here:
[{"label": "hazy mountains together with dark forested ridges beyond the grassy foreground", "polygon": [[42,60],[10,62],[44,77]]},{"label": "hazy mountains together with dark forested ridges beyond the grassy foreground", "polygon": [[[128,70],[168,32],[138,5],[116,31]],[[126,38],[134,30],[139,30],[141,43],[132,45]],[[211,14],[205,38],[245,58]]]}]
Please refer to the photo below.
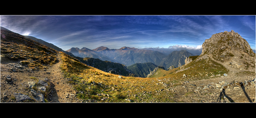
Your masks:
[{"label": "hazy mountains together with dark forested ridges beyond the grassy foreground", "polygon": [[[67,50],[67,52],[72,53],[74,56],[76,56],[76,58],[80,58],[80,60],[84,60],[82,58],[90,58],[90,60],[99,59],[101,61],[111,61],[115,62],[116,64],[123,64],[127,66],[129,70],[131,70],[131,72],[129,72],[130,74],[135,75],[137,77],[147,77],[147,75],[158,66],[164,67],[166,69],[168,69],[171,66],[180,67],[181,65],[185,64],[184,61],[186,57],[194,56],[186,50],[172,51],[170,54],[165,55],[159,51],[152,51],[146,49],[130,47],[122,47],[120,49],[109,49],[103,46],[92,50],[85,47],[82,49],[70,48],[69,50]],[[99,57],[96,55],[101,56]],[[92,64],[90,65],[93,66]],[[97,64],[95,64],[95,67],[96,65]],[[144,67],[141,67],[142,65]],[[148,65],[150,67],[148,68],[145,65]],[[100,69],[99,67],[96,68]],[[106,71],[105,68],[105,70],[103,69],[103,71],[109,72],[109,69]]]}]

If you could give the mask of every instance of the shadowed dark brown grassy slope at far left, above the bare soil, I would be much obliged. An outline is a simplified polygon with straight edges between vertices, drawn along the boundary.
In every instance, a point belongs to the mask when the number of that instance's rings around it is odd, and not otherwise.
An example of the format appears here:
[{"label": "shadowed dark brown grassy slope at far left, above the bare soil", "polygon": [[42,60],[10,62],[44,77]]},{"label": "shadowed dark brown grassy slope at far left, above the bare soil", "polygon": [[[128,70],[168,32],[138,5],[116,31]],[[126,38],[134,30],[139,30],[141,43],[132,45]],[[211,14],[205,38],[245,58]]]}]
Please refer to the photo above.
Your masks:
[{"label": "shadowed dark brown grassy slope at far left, above the bare soil", "polygon": [[21,61],[31,69],[56,62],[56,51],[11,31],[1,30],[1,63]]}]

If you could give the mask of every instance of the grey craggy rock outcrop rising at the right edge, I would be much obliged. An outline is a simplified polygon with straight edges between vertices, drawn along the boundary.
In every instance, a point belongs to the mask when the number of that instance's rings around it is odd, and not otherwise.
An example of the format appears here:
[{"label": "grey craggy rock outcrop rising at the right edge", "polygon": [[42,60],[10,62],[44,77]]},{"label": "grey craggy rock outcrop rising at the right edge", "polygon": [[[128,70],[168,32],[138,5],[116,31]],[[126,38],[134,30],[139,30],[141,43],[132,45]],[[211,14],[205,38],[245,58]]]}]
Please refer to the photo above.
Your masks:
[{"label": "grey craggy rock outcrop rising at the right edge", "polygon": [[211,57],[224,66],[255,70],[255,53],[249,43],[233,30],[212,35],[205,40],[202,48],[197,60]]}]

